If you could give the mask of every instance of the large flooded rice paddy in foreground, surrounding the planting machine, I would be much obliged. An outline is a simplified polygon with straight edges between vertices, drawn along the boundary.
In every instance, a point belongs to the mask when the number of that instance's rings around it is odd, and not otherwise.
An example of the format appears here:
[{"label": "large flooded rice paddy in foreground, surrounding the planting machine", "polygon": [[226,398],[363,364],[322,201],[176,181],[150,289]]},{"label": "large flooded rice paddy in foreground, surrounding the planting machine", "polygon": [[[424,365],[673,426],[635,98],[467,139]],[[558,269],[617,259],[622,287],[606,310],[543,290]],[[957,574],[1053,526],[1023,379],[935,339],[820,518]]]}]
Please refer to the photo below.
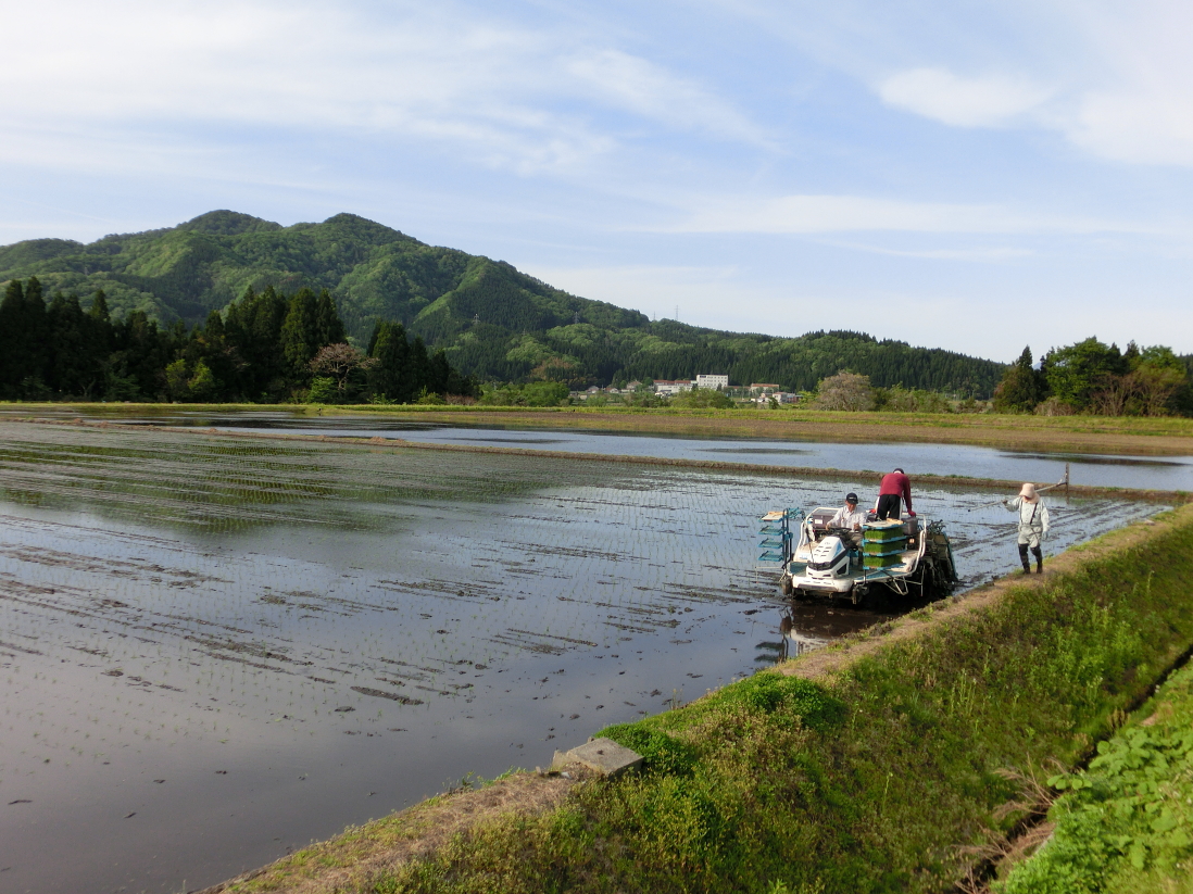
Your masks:
[{"label": "large flooded rice paddy in foreground, surrounding the planting machine", "polygon": [[[0,423],[0,888],[203,887],[890,617],[754,567],[861,486]],[[916,501],[1012,567],[988,493]]]}]

